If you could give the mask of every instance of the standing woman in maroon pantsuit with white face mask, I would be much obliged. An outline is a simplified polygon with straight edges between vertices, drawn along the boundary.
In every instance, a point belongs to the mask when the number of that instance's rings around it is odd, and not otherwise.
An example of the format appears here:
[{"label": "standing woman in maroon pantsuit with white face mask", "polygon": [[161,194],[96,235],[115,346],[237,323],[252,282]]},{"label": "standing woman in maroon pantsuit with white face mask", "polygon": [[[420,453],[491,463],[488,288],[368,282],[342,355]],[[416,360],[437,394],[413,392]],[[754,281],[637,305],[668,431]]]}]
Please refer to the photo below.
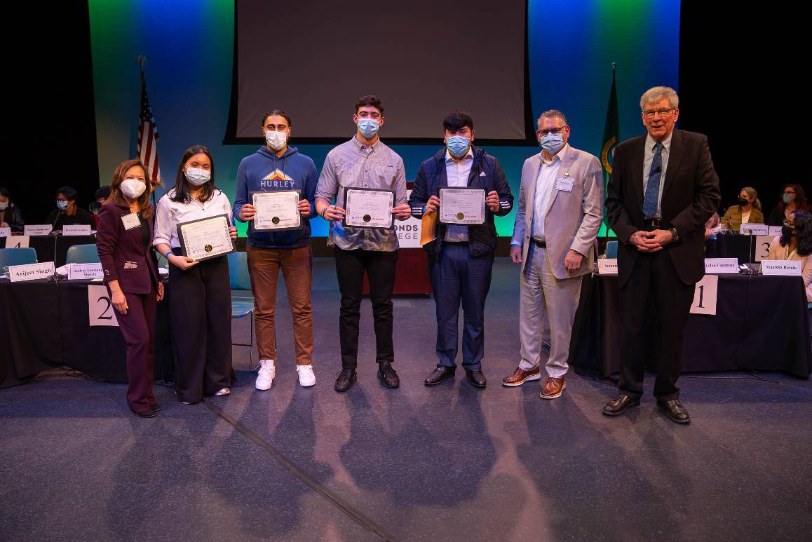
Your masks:
[{"label": "standing woman in maroon pantsuit with white face mask", "polygon": [[110,197],[98,214],[96,246],[110,301],[127,342],[127,405],[152,418],[161,407],[153,395],[155,309],[163,297],[152,250],[153,209],[149,174],[139,160],[119,164]]}]

